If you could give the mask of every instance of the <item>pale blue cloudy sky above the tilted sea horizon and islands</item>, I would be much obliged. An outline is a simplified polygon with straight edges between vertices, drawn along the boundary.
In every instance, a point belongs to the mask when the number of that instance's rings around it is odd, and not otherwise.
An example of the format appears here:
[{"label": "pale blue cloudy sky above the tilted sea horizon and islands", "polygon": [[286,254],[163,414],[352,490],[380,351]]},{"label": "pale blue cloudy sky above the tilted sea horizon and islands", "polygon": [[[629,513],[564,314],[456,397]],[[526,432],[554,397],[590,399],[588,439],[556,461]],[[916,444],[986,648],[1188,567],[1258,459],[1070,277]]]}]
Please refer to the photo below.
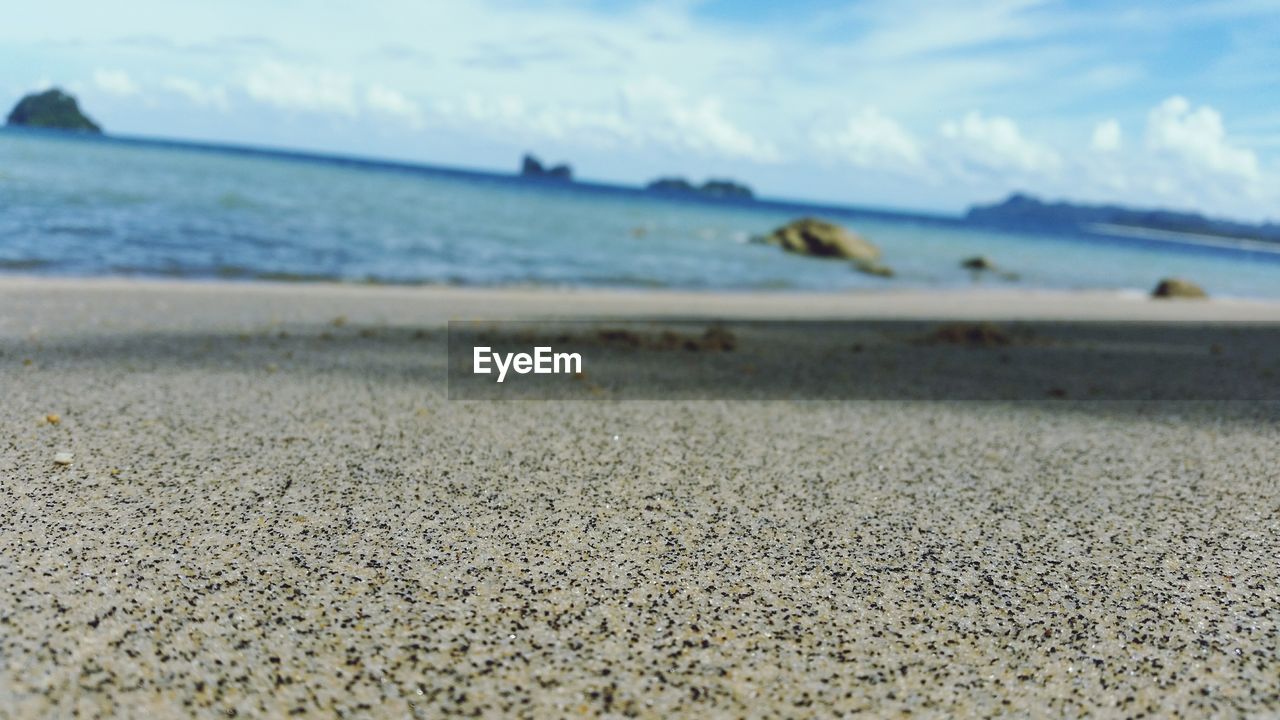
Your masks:
[{"label": "pale blue cloudy sky above the tilted sea horizon and islands", "polygon": [[[1280,0],[42,0],[0,101],[108,132],[963,211],[1280,222]],[[8,95],[8,99],[4,97]]]}]

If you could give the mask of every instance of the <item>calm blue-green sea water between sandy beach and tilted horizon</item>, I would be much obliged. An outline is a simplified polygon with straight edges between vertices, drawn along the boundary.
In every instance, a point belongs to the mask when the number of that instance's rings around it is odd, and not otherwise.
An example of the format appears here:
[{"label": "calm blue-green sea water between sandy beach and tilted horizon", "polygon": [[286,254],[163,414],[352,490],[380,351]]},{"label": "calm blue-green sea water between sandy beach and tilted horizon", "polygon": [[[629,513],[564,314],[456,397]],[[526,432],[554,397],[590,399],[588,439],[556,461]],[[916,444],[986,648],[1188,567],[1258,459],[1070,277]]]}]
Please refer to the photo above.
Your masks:
[{"label": "calm blue-green sea water between sandy beach and tilted horizon", "polygon": [[[897,277],[750,237],[804,214],[879,245]],[[960,268],[987,255],[1018,279]],[[735,290],[893,287],[1280,297],[1280,252],[1004,232],[940,218],[701,202],[393,164],[0,132],[0,272]]]}]

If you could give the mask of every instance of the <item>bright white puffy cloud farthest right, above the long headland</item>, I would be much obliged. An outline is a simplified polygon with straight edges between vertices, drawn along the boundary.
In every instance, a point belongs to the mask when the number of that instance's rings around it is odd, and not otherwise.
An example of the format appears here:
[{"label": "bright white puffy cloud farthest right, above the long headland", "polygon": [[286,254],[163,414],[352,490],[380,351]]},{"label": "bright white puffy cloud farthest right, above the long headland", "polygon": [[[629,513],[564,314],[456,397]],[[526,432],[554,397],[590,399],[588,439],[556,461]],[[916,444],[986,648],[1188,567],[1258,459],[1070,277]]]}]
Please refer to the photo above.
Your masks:
[{"label": "bright white puffy cloud farthest right, above the long headland", "polygon": [[1208,105],[1193,110],[1180,95],[1165,100],[1147,115],[1147,146],[1181,158],[1198,169],[1243,179],[1260,177],[1257,155],[1228,141],[1222,115]]}]

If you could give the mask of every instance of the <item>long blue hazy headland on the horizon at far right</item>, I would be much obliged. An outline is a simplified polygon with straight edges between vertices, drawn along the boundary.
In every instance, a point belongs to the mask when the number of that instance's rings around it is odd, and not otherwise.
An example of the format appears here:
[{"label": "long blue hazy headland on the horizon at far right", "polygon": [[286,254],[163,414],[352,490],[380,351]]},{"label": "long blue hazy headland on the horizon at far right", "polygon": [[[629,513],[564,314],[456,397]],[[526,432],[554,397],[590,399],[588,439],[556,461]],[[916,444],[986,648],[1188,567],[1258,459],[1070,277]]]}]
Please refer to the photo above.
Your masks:
[{"label": "long blue hazy headland on the horizon at far right", "polygon": [[[1064,225],[1101,231],[1161,231],[1203,234],[1233,240],[1280,242],[1280,224],[1251,224],[1206,218],[1198,213],[1143,210],[1119,205],[1075,205],[1044,202],[1038,197],[1015,192],[1004,202],[974,205],[966,218],[974,223],[1004,227]],[[1091,228],[1089,225],[1102,225]]]}]

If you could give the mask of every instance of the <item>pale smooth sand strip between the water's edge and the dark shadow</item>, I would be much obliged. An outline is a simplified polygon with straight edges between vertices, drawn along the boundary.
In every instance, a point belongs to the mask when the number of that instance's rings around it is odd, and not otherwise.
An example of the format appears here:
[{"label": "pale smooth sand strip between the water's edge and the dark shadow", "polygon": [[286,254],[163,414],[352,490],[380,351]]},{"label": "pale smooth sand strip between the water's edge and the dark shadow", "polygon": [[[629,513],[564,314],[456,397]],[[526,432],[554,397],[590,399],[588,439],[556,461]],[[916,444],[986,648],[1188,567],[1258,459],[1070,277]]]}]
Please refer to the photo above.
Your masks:
[{"label": "pale smooth sand strip between the water's edge and the dark shadow", "polygon": [[[325,307],[351,301],[352,310],[385,301],[412,310],[388,315],[407,322],[544,318],[723,318],[723,319],[883,319],[883,320],[1106,320],[1280,323],[1280,300],[1156,300],[1132,291],[1021,288],[804,291],[687,291],[634,288],[550,288],[536,286],[380,286],[340,282],[292,283],[169,278],[0,277],[0,297],[18,306],[44,299],[170,299],[207,316],[200,299],[233,305],[252,300],[320,300]],[[297,304],[294,304],[297,305]],[[12,318],[9,318],[12,319]],[[8,319],[0,316],[0,323]]]}]

